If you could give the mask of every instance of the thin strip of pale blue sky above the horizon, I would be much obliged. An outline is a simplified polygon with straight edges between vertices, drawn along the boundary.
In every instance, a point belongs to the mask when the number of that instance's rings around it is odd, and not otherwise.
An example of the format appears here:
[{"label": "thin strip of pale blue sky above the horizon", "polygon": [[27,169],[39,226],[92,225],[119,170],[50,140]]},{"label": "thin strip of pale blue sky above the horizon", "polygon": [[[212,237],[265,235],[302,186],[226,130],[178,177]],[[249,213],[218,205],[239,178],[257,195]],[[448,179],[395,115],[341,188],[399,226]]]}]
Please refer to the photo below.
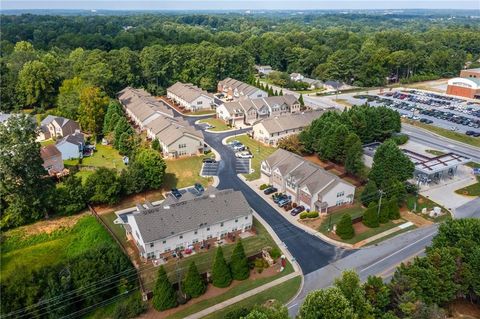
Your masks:
[{"label": "thin strip of pale blue sky above the horizon", "polygon": [[480,0],[0,0],[7,9],[108,9],[108,10],[314,10],[314,9],[471,9],[480,10]]}]

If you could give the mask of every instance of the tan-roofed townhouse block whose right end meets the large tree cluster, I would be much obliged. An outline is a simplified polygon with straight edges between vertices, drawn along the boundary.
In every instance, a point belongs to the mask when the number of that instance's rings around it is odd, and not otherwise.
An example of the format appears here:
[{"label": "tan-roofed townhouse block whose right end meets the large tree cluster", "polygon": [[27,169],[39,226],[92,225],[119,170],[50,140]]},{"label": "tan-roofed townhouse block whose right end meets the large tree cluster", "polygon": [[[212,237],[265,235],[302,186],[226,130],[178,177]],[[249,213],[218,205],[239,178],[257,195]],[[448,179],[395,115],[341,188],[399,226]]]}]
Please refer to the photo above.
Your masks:
[{"label": "tan-roofed townhouse block whose right end meets the large tree cluster", "polygon": [[276,146],[280,139],[300,133],[323,113],[323,110],[315,110],[266,118],[253,125],[253,138]]}]

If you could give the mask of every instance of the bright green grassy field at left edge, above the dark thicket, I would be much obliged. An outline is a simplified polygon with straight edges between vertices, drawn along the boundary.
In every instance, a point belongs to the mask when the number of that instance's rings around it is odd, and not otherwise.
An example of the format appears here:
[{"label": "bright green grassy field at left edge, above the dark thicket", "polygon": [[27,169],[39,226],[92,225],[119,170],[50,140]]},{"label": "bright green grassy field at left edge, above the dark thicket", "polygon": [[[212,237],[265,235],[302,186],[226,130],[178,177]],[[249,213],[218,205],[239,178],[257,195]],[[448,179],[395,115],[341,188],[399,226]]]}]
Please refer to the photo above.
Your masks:
[{"label": "bright green grassy field at left edge, above the dark thicket", "polygon": [[82,217],[71,228],[60,228],[50,234],[27,232],[26,227],[5,232],[2,249],[0,277],[7,278],[19,267],[30,270],[65,262],[102,245],[116,245],[108,232],[93,216]]}]

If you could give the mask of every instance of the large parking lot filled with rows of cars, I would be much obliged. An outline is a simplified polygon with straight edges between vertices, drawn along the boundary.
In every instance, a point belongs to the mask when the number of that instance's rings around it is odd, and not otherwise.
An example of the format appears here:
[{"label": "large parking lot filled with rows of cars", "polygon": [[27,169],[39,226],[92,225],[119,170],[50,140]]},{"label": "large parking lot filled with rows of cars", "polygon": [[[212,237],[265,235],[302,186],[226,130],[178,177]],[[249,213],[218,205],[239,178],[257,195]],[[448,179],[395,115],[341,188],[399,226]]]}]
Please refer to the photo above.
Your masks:
[{"label": "large parking lot filled with rows of cars", "polygon": [[387,92],[382,95],[355,96],[373,106],[385,105],[403,117],[452,131],[480,137],[480,102],[417,90]]}]

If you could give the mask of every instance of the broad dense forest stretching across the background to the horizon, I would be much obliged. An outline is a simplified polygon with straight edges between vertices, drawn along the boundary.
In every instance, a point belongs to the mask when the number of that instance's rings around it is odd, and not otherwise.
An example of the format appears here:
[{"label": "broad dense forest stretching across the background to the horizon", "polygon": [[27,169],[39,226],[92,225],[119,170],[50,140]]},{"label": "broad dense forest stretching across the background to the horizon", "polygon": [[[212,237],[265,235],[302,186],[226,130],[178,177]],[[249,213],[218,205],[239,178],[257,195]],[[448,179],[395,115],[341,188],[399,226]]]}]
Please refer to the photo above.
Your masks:
[{"label": "broad dense forest stretching across the background to the horizon", "polygon": [[108,94],[126,85],[163,93],[177,80],[205,89],[226,76],[247,81],[254,63],[360,86],[454,76],[475,66],[479,27],[442,18],[2,16],[2,109],[53,106],[62,81],[76,76]]}]

